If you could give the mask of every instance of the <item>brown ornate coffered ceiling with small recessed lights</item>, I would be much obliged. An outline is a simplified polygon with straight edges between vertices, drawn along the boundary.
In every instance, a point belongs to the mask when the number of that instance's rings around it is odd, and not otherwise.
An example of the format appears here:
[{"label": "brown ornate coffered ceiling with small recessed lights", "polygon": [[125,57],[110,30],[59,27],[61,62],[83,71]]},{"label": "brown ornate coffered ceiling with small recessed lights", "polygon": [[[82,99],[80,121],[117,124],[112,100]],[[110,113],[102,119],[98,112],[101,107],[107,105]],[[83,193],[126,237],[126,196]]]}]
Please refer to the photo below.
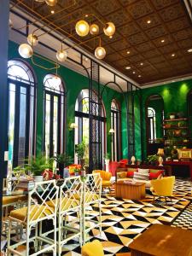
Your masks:
[{"label": "brown ornate coffered ceiling with small recessed lights", "polygon": [[[73,0],[58,0],[54,8],[33,0],[12,2],[63,35],[73,34],[74,41],[84,40],[81,46],[91,53],[98,43],[96,39],[85,43],[89,35],[79,38],[74,31],[76,21],[86,14],[113,21],[113,38],[101,32],[107,51],[104,61],[141,85],[192,73],[192,52],[188,51],[192,49],[192,26],[183,0],[77,0],[74,5]],[[102,31],[101,23],[95,21]]]}]

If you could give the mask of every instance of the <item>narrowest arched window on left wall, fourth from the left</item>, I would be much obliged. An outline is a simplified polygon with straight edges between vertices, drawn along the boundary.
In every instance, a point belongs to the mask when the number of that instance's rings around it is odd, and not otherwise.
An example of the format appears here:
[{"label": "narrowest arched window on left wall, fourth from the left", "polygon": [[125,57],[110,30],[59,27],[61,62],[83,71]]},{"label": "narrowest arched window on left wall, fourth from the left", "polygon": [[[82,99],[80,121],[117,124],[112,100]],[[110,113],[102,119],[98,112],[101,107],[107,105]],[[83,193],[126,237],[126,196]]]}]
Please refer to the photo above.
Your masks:
[{"label": "narrowest arched window on left wall, fourth from the left", "polygon": [[111,103],[111,158],[118,161],[120,158],[120,111],[119,106],[115,100]]}]

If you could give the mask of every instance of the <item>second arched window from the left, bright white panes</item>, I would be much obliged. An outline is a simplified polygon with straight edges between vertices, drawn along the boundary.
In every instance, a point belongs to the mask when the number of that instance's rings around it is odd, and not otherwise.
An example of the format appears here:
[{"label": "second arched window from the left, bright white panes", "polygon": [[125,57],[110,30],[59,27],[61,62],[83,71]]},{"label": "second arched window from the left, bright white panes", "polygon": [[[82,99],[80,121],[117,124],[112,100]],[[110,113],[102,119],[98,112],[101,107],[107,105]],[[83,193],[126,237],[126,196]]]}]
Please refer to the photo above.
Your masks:
[{"label": "second arched window from the left, bright white panes", "polygon": [[54,74],[44,77],[44,152],[46,157],[64,152],[65,87]]}]

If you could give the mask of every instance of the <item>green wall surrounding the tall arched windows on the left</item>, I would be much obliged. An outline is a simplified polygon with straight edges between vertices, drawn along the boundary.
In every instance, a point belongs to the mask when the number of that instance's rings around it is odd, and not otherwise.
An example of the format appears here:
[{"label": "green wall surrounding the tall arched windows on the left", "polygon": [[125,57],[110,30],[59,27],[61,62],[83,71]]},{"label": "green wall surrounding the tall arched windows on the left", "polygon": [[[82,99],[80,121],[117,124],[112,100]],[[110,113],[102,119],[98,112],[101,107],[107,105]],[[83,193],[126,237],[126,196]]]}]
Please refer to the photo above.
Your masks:
[{"label": "green wall surrounding the tall arched windows on the left", "polygon": [[[47,73],[54,73],[53,71],[49,72],[43,68],[37,67],[32,64],[31,59],[22,59],[18,53],[18,44],[15,44],[12,41],[9,41],[9,60],[14,58],[20,58],[22,61],[27,61],[32,67],[34,74],[36,76],[37,81],[37,154],[42,152],[43,150],[43,124],[44,124],[44,77]],[[39,64],[44,65],[45,67],[50,67],[49,62],[37,59]],[[67,67],[61,66],[58,69],[58,75],[63,80],[66,90],[67,90],[67,119],[66,119],[66,148],[67,153],[74,155],[74,136],[73,131],[69,131],[69,125],[74,122],[74,110],[75,110],[75,102],[79,95],[79,92],[83,89],[89,88],[89,79],[85,76],[73,72],[71,69]],[[104,103],[104,107],[106,110],[107,117],[107,151],[110,153],[111,144],[110,144],[110,135],[108,131],[110,129],[110,116],[111,116],[111,102],[116,99],[119,102],[121,107],[122,103],[122,95],[112,89],[106,88],[103,91],[102,101]],[[123,118],[122,118],[123,119]]]}]

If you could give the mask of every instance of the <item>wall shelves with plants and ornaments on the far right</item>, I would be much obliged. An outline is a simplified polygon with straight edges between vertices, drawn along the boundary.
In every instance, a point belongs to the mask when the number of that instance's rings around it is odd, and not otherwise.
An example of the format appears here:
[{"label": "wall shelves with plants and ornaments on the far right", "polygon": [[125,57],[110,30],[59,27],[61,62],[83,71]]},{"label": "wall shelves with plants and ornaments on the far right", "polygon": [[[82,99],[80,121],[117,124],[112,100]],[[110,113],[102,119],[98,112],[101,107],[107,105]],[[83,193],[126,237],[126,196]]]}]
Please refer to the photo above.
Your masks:
[{"label": "wall shelves with plants and ornaments on the far right", "polygon": [[177,146],[177,148],[189,147],[189,119],[164,119],[163,129],[165,146]]}]

